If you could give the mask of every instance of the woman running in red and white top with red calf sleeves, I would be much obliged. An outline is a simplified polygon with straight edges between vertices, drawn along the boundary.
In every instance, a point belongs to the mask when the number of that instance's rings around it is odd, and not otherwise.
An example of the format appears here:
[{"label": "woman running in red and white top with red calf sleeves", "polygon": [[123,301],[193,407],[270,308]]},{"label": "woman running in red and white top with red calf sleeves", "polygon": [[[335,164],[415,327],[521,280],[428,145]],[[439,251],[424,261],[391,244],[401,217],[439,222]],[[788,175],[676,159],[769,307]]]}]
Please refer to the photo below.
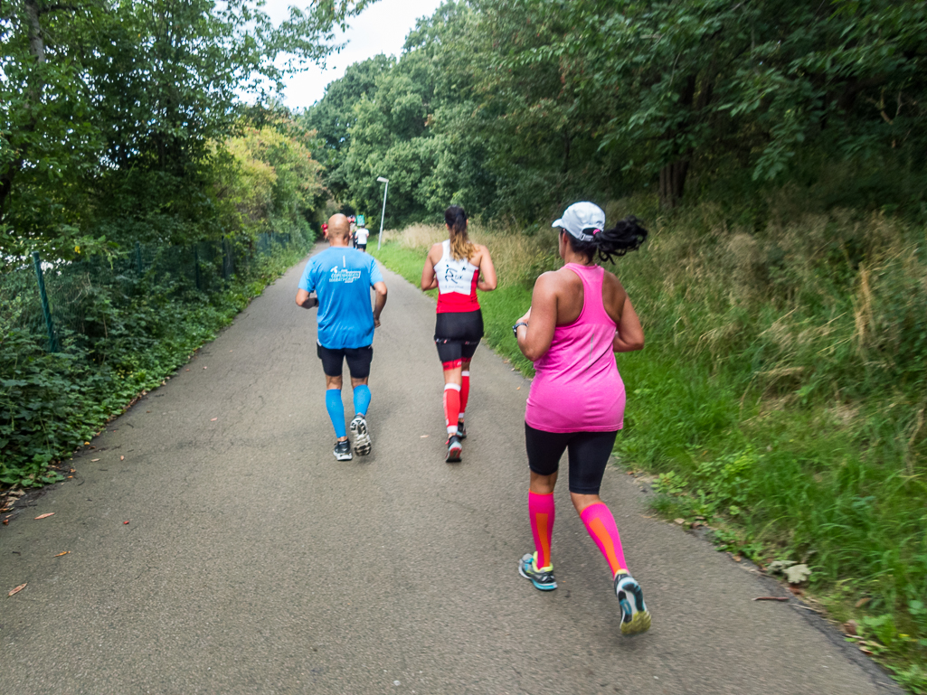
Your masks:
[{"label": "woman running in red and white top with red calf sleeves", "polygon": [[466,437],[464,413],[470,394],[470,360],[483,337],[483,314],[476,290],[496,288],[496,269],[489,249],[470,241],[466,212],[452,205],[444,211],[449,238],[435,244],[425,258],[422,289],[438,287],[435,344],[444,367],[444,417],[448,425],[449,463],[461,460]]}]

